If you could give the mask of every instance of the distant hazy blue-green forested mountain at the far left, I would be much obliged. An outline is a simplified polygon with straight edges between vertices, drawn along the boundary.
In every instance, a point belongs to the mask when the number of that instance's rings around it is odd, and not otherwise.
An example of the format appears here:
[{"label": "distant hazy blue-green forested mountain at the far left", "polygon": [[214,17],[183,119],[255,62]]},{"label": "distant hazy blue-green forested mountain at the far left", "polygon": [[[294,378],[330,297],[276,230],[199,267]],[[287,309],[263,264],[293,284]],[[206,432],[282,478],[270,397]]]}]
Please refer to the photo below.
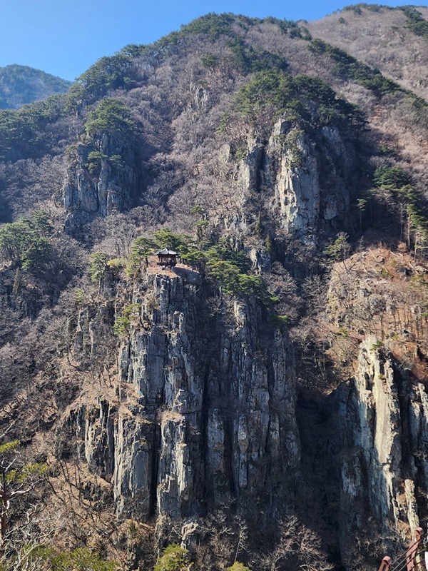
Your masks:
[{"label": "distant hazy blue-green forested mountain at the far left", "polygon": [[71,81],[16,64],[0,68],[0,109],[17,109],[49,95],[63,94]]}]

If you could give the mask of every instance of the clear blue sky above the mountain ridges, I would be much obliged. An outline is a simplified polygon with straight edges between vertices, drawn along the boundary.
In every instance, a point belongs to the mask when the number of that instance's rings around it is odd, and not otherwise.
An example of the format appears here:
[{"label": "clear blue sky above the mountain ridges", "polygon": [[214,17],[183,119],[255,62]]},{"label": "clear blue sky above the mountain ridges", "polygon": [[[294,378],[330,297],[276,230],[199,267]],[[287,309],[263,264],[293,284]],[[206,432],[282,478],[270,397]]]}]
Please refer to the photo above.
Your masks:
[{"label": "clear blue sky above the mountain ridges", "polygon": [[[356,0],[0,0],[0,66],[76,79],[126,44],[150,44],[208,12],[315,20]],[[379,0],[400,6],[406,0]],[[427,5],[426,1],[417,2]]]}]

